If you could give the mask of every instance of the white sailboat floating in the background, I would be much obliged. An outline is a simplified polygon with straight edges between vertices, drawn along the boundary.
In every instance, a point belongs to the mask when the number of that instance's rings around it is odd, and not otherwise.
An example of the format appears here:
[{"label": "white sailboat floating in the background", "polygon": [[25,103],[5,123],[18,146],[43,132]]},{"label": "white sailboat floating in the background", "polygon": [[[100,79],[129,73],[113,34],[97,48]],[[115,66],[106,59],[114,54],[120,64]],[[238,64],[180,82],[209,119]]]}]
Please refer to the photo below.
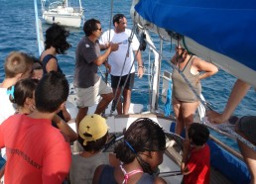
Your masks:
[{"label": "white sailboat floating in the background", "polygon": [[48,24],[59,23],[62,26],[79,28],[83,20],[81,1],[76,4],[68,0],[41,0],[43,19]]}]

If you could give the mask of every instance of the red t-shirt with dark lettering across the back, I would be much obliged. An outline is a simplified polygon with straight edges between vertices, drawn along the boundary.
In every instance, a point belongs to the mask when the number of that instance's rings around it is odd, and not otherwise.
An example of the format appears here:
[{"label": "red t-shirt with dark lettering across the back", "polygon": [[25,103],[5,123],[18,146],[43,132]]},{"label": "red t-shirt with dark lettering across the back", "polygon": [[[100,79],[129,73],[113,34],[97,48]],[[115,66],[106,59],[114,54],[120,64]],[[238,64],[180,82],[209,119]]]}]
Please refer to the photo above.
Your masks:
[{"label": "red t-shirt with dark lettering across the back", "polygon": [[14,115],[0,126],[6,147],[5,184],[61,184],[71,162],[69,143],[46,119]]}]

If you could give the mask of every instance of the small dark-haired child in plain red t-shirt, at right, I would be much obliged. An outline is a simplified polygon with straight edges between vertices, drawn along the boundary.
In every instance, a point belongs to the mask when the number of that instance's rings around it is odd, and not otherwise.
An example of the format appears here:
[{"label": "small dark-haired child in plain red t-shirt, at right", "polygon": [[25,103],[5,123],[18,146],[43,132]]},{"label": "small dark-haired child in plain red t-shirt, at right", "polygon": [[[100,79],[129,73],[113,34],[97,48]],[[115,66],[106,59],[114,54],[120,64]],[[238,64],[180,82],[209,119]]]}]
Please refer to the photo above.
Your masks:
[{"label": "small dark-haired child in plain red t-shirt, at right", "polygon": [[[209,138],[208,129],[193,123],[189,129],[189,138],[184,140],[182,173],[184,184],[208,184],[210,169],[210,150],[206,144]],[[191,145],[192,144],[192,145]]]}]

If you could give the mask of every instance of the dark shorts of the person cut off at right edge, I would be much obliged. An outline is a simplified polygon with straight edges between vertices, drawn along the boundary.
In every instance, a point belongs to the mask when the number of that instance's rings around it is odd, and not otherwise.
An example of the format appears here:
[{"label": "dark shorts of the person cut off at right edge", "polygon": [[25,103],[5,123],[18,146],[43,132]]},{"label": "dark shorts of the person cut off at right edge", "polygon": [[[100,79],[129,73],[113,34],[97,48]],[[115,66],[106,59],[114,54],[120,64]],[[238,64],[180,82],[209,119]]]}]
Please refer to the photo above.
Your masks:
[{"label": "dark shorts of the person cut off at right edge", "polygon": [[249,141],[256,143],[256,116],[242,117],[237,128]]}]

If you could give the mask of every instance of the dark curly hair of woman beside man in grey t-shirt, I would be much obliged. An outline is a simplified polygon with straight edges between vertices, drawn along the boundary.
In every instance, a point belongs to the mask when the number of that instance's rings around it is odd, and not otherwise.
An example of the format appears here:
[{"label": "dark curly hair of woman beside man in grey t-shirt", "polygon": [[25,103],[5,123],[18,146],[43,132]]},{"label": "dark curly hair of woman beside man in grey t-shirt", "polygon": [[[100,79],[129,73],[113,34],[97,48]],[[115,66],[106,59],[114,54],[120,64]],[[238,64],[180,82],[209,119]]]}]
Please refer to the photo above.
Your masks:
[{"label": "dark curly hair of woman beside man in grey t-shirt", "polygon": [[64,29],[64,27],[53,24],[46,31],[46,41],[45,49],[50,48],[51,46],[56,48],[57,53],[65,54],[66,50],[71,46],[67,43],[66,38],[69,36],[69,32]]}]

